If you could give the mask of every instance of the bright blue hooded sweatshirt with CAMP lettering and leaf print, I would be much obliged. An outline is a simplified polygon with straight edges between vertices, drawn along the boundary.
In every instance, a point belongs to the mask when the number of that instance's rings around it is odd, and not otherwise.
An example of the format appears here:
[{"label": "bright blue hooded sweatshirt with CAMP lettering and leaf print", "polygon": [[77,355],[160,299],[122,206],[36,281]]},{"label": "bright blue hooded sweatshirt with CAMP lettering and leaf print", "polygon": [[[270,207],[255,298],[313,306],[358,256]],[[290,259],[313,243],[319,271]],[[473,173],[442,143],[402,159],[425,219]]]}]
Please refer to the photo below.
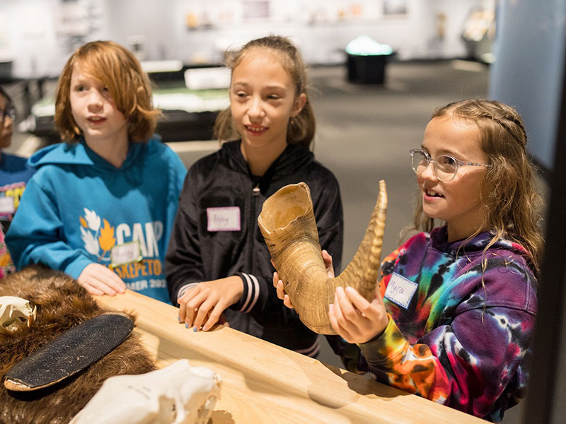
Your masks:
[{"label": "bright blue hooded sweatshirt with CAMP lettering and leaf print", "polygon": [[[117,168],[81,140],[42,148],[29,164],[37,172],[6,234],[18,269],[45,264],[77,278],[98,262],[127,288],[170,303],[163,259],[187,173],[171,148],[132,143]],[[120,262],[112,248],[131,242],[139,256]]]}]

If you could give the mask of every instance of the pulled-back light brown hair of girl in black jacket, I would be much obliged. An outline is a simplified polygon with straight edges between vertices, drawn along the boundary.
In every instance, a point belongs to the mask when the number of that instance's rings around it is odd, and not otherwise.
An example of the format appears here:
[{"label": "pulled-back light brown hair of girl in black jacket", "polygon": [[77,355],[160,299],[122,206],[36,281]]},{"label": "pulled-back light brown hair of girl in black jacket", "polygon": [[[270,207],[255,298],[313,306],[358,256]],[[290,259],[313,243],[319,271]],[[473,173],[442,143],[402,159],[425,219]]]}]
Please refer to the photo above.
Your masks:
[{"label": "pulled-back light brown hair of girl in black jacket", "polygon": [[[296,117],[289,119],[287,125],[287,143],[301,144],[310,146],[313,141],[316,122],[314,118],[311,102],[306,93],[306,66],[299,50],[286,37],[270,35],[268,37],[252,40],[244,45],[233,57],[229,57],[226,66],[233,72],[236,66],[241,63],[246,54],[250,54],[253,49],[271,49],[277,53],[282,66],[291,76],[295,83],[295,98],[301,94],[306,95],[306,103]],[[214,137],[220,141],[238,139],[239,135],[234,129],[230,107],[221,111],[216,117],[214,124]]]}]

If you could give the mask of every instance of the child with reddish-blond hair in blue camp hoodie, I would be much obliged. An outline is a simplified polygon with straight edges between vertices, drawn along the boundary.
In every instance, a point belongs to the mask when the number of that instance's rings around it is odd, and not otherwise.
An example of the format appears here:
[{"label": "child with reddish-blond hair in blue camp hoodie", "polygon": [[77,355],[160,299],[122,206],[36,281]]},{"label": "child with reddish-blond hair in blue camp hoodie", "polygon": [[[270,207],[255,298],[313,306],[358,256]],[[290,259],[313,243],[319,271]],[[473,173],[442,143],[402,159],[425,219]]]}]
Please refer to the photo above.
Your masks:
[{"label": "child with reddish-blond hair in blue camp hoodie", "polygon": [[18,269],[44,264],[94,295],[126,288],[170,302],[163,259],[186,168],[152,137],[159,115],[139,61],[110,41],[74,52],[59,76],[64,143],[29,160],[6,243]]}]

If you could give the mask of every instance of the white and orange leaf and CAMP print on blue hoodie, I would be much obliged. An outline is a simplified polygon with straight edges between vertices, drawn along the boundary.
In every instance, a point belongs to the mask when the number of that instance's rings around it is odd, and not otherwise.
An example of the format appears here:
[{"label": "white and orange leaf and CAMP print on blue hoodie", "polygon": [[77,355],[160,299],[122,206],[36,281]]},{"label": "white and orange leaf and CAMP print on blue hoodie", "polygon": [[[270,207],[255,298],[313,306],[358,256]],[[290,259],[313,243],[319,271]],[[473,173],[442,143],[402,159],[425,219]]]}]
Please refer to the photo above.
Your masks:
[{"label": "white and orange leaf and CAMP print on blue hoodie", "polygon": [[[163,264],[159,259],[158,241],[163,236],[163,223],[120,223],[112,226],[105,218],[100,218],[96,211],[83,208],[84,214],[79,217],[81,240],[86,252],[92,254],[99,262],[113,269],[122,279],[137,279],[143,276],[161,276]],[[136,242],[143,260],[135,263],[112,266],[112,249],[127,243]],[[151,259],[155,258],[155,259]],[[165,280],[149,281],[149,287],[165,286]],[[141,287],[136,287],[139,290]],[[136,289],[134,288],[134,289]]]}]

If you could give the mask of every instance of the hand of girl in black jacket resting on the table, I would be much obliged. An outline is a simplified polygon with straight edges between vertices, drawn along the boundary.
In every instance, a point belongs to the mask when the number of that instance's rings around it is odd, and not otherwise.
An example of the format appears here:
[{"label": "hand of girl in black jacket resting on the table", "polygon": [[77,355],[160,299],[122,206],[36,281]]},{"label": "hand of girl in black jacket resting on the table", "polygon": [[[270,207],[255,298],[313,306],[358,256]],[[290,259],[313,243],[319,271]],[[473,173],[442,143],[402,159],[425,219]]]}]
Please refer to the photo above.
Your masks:
[{"label": "hand of girl in black jacket resting on the table", "polygon": [[179,321],[195,331],[207,331],[221,319],[224,310],[242,297],[243,283],[238,276],[202,281],[187,290],[179,303]]}]

